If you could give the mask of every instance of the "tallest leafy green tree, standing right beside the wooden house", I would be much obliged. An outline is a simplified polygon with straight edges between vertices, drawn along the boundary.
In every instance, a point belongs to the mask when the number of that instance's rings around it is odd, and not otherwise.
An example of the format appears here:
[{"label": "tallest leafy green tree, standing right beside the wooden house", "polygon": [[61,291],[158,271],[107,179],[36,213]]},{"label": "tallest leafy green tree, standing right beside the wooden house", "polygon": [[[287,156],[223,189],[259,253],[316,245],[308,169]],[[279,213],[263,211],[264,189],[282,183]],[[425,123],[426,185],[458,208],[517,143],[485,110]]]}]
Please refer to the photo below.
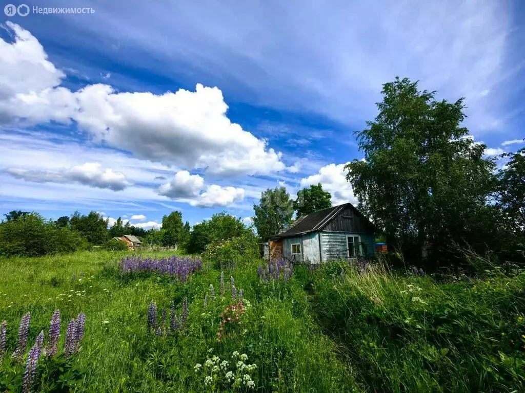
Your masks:
[{"label": "tallest leafy green tree, standing right beside the wooden house", "polygon": [[387,242],[425,259],[465,235],[495,186],[495,163],[467,128],[463,99],[437,101],[408,79],[383,85],[379,114],[356,132],[365,161],[346,168],[361,211]]}]

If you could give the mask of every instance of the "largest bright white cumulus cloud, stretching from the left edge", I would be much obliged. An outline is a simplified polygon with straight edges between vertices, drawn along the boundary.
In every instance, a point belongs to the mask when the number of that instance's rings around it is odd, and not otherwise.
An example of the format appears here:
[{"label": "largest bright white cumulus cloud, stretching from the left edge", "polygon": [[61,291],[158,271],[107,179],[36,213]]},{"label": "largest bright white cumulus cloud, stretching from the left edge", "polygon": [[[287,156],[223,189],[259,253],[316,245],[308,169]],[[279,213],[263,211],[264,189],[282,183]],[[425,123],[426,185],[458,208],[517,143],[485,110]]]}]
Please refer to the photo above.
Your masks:
[{"label": "largest bright white cumulus cloud, stretching from the left edge", "polygon": [[197,84],[195,91],[156,95],[91,84],[74,92],[60,86],[65,74],[47,60],[29,31],[11,22],[7,28],[15,39],[0,39],[0,122],[74,120],[95,141],[137,157],[212,173],[285,169],[280,152],[229,120],[218,88]]}]

